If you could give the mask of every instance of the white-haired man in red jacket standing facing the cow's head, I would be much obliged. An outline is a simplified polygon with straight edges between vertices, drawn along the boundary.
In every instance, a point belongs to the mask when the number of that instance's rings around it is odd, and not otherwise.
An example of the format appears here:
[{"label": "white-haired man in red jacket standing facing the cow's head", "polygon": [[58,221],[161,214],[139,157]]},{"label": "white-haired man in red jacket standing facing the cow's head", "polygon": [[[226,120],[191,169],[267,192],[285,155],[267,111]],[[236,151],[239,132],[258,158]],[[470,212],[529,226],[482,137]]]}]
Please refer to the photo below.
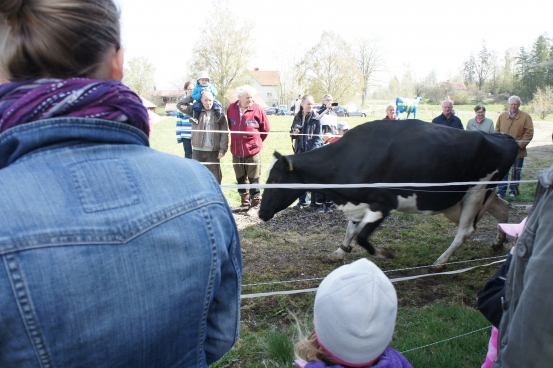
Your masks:
[{"label": "white-haired man in red jacket standing facing the cow's head", "polygon": [[[263,141],[271,130],[265,111],[253,101],[255,89],[245,85],[236,89],[238,100],[227,109],[229,129],[231,131],[230,151],[238,184],[259,183],[261,172],[261,149]],[[257,211],[260,198],[259,188],[238,189],[242,199],[241,206],[233,212]]]}]

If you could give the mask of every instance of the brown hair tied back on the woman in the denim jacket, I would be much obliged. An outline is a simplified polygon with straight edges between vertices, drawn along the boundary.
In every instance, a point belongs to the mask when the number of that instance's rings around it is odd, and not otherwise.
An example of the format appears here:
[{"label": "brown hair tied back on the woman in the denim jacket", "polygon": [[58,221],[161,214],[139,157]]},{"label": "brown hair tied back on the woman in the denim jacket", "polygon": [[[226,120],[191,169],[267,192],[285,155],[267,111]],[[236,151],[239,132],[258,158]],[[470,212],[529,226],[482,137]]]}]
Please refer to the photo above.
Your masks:
[{"label": "brown hair tied back on the woman in the denim jacket", "polygon": [[2,0],[0,69],[11,81],[89,77],[121,45],[113,0]]}]

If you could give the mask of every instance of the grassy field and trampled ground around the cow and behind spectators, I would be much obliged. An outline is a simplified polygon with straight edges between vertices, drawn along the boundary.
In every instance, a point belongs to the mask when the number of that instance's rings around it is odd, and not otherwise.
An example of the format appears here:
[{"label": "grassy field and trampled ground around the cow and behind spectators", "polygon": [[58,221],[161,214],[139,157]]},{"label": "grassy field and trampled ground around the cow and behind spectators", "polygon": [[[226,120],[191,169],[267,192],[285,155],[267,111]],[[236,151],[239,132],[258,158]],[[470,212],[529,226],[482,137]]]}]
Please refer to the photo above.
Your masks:
[{"label": "grassy field and trampled ground around the cow and behind spectators", "polygon": [[[383,109],[381,111],[380,108],[375,105],[373,115],[367,118],[344,118],[339,121],[345,120],[350,127],[354,127],[380,119],[383,117]],[[487,108],[487,116],[492,120],[503,111],[500,105]],[[456,109],[465,123],[473,116],[472,106],[456,106]],[[439,106],[422,105],[417,117],[429,121],[439,111]],[[265,169],[272,160],[274,150],[283,154],[292,153],[288,135],[291,119],[290,116],[270,116],[274,133],[264,143],[261,182],[266,180]],[[553,125],[550,126],[553,128]],[[178,145],[175,139],[173,118],[154,126],[150,142],[154,149],[183,156],[182,145]],[[230,152],[222,162],[223,184],[235,184]],[[552,163],[550,154],[530,152],[522,179],[535,179],[540,169]],[[531,203],[534,190],[534,184],[521,185],[521,195],[513,203],[512,222],[520,221],[526,215],[520,208]],[[236,190],[224,190],[224,193],[231,206],[238,205]],[[321,259],[341,242],[346,225],[343,215],[338,212],[328,215],[298,212],[303,211],[285,210],[279,214],[281,216],[267,223],[236,216],[243,249],[243,294],[316,287],[320,278],[342,264],[326,264]],[[452,261],[506,254],[507,249],[496,253],[488,246],[496,225],[489,215],[484,216],[475,235],[459,249]],[[430,265],[451,243],[456,230],[456,226],[442,216],[396,213],[386,219],[381,229],[372,236],[376,246],[386,246],[396,254],[396,258],[373,261],[388,271]],[[343,263],[366,256],[365,251],[358,248]],[[487,262],[491,261],[474,264]],[[474,264],[450,265],[448,271]],[[479,367],[486,355],[490,324],[475,309],[475,297],[498,267],[494,265],[458,275],[395,283],[399,310],[391,346],[404,351],[405,357],[414,367]],[[420,273],[426,273],[426,269],[390,272],[388,276],[395,278]],[[298,279],[313,280],[252,285]],[[312,329],[313,299],[314,293],[243,299],[239,341],[213,366],[291,367],[293,343],[299,336],[296,318],[301,322],[302,330]]]}]

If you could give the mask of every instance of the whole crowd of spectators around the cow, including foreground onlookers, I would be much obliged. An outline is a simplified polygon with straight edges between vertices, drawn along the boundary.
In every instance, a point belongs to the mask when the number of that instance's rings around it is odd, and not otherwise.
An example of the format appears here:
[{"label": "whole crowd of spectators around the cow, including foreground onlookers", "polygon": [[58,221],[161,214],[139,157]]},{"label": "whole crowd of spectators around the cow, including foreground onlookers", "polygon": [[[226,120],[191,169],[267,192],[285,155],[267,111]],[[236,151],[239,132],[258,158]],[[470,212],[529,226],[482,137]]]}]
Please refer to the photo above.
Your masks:
[{"label": "whole crowd of spectators around the cow, including foreground onlookers", "polygon": [[[187,160],[165,155],[149,148],[146,110],[121,83],[112,0],[6,0],[0,16],[0,366],[207,367],[219,360],[236,343],[240,322],[242,255],[232,213],[254,215],[262,201],[258,188],[238,189],[240,206],[229,208],[220,160],[230,144],[236,182],[259,184],[271,128],[256,91],[237,88],[224,111],[209,73],[198,72],[175,114]],[[333,104],[331,94],[318,109],[312,96],[298,96],[294,154],[354,134]],[[533,138],[520,105],[511,96],[494,124],[478,104],[466,125],[519,144],[501,198],[518,195]],[[388,106],[384,120],[397,118]],[[449,99],[432,123],[464,129]],[[494,319],[496,368],[553,361],[552,169],[539,179],[505,272],[504,312]],[[331,212],[332,198],[304,193],[297,208]],[[374,263],[335,269],[317,290],[314,330],[296,345],[295,364],[411,367],[389,346],[397,308],[392,283]]]}]

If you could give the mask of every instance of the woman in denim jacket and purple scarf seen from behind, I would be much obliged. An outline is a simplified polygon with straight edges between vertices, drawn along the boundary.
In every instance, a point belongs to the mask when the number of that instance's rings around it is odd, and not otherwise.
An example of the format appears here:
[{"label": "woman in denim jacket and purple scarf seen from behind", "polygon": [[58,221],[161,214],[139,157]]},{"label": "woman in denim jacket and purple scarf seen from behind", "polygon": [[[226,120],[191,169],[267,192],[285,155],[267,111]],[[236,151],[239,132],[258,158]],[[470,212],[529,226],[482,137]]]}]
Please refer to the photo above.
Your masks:
[{"label": "woman in denim jacket and purple scarf seen from behind", "polygon": [[207,367],[238,336],[238,232],[205,167],[149,148],[116,6],[0,17],[0,367]]}]

